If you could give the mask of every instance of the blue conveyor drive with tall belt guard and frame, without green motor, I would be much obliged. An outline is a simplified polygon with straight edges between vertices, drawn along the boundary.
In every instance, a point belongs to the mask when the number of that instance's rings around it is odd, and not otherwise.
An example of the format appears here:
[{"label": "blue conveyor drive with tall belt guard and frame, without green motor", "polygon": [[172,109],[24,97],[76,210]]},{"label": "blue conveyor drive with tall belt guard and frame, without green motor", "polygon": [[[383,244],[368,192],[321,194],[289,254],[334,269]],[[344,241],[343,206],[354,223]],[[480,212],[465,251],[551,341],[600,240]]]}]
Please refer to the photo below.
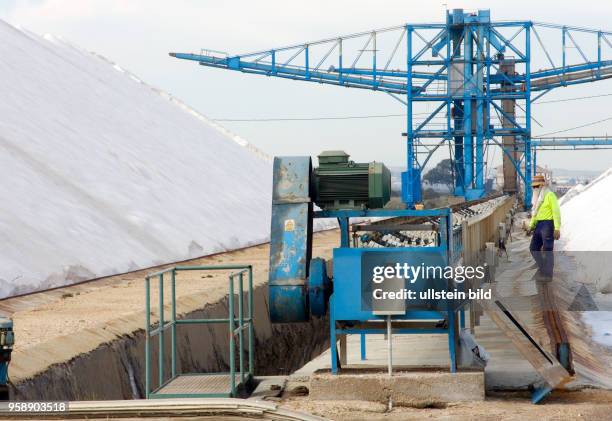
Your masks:
[{"label": "blue conveyor drive with tall belt guard and frame, without green motor", "polygon": [[[446,267],[461,255],[460,231],[453,230],[450,209],[442,210],[319,210],[313,211],[312,165],[310,157],[274,159],[272,229],[270,239],[269,311],[276,323],[304,322],[310,316],[324,316],[329,305],[331,343],[336,335],[384,333],[377,321],[372,297],[371,269],[391,264]],[[435,242],[411,247],[351,247],[350,219],[362,217],[419,217],[431,223]],[[334,218],[340,225],[340,247],[333,251],[333,287],[325,261],[311,258],[314,218]],[[410,229],[409,225],[397,230]],[[385,228],[385,229],[388,229]],[[392,228],[395,229],[395,228]],[[419,279],[415,291],[448,290],[452,281]],[[462,286],[455,286],[458,290]],[[333,290],[333,291],[332,291]],[[370,301],[368,301],[370,297]],[[403,303],[403,302],[402,302]],[[406,301],[407,303],[407,301]],[[449,338],[450,370],[455,372],[459,316],[465,302],[411,300],[392,316],[393,333],[442,333]],[[404,304],[402,304],[404,305]],[[362,336],[363,338],[363,336]],[[336,346],[332,346],[332,371],[338,370]]]}]

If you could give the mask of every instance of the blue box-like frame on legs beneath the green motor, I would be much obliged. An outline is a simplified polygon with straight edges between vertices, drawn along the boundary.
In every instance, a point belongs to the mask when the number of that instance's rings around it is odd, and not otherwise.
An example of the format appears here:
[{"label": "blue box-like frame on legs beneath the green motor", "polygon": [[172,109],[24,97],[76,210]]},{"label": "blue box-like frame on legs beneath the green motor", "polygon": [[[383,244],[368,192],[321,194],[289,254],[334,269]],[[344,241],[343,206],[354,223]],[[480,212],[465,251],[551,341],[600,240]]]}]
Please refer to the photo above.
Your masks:
[{"label": "blue box-like frame on legs beneath the green motor", "polygon": [[[363,211],[321,211],[315,212],[315,217],[335,217],[340,221],[341,247],[335,248],[333,294],[330,297],[330,337],[336,344],[337,335],[361,334],[362,356],[365,353],[365,335],[385,333],[384,325],[372,324],[383,321],[387,316],[376,314],[371,306],[364,303],[364,294],[359,285],[362,282],[364,259],[378,259],[379,262],[406,262],[411,266],[453,266],[461,255],[460,231],[452,228],[452,213],[450,209],[437,210],[363,210]],[[394,247],[394,248],[352,248],[349,242],[350,218],[356,217],[427,217],[436,221],[438,240],[433,247]],[[379,255],[379,256],[378,256]],[[454,284],[453,280],[419,279],[410,289],[416,291],[425,289],[463,290],[463,284]],[[410,300],[406,303],[403,314],[391,316],[393,322],[430,321],[427,327],[420,323],[411,326],[404,323],[402,327],[393,329],[397,334],[432,334],[448,335],[450,371],[457,370],[457,344],[459,325],[464,324],[463,307],[466,302],[446,300]],[[374,327],[376,326],[376,327]],[[380,326],[380,327],[377,327]],[[400,325],[398,325],[400,326]],[[406,326],[406,327],[403,327]],[[339,368],[338,352],[335,345],[331,347],[332,372]]]}]

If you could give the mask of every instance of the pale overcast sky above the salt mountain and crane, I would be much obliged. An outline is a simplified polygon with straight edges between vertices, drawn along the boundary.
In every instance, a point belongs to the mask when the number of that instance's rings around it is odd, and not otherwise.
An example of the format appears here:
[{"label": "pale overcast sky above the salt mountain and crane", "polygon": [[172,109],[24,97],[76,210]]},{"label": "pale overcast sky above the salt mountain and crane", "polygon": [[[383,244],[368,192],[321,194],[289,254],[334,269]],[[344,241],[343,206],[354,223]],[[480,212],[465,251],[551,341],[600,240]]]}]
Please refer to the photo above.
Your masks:
[{"label": "pale overcast sky above the salt mountain and crane", "polygon": [[[206,1],[2,0],[0,17],[95,51],[210,118],[317,117],[402,113],[382,93],[204,68],[169,51],[242,53],[405,22],[442,22],[446,8],[490,8],[497,20],[534,20],[612,30],[610,1]],[[558,89],[548,100],[612,93],[612,81]],[[534,105],[534,135],[612,117],[612,96]],[[223,123],[271,155],[344,149],[358,161],[404,165],[401,117]],[[564,135],[612,134],[612,120]],[[490,158],[498,161],[500,152]],[[447,157],[440,152],[433,160]],[[539,163],[606,169],[612,151],[546,152]]]}]

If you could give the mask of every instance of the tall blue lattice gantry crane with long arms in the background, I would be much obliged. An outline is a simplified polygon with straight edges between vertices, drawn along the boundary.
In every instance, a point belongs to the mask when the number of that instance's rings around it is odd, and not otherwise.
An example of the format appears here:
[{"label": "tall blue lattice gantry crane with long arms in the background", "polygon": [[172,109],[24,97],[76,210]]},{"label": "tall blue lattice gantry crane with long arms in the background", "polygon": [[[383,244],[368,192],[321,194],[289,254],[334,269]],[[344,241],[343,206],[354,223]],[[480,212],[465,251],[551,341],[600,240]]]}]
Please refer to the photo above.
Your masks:
[{"label": "tall blue lattice gantry crane with long arms in the background", "polygon": [[[384,92],[406,107],[402,199],[421,200],[421,174],[447,144],[455,194],[482,197],[486,152],[501,146],[507,191],[531,204],[537,149],[609,148],[607,136],[532,138],[532,105],[555,88],[612,77],[612,32],[448,11],[405,24],[254,53],[170,53],[203,66]],[[544,69],[533,71],[532,69]],[[501,138],[501,139],[500,139]],[[517,180],[518,174],[518,180]]]}]

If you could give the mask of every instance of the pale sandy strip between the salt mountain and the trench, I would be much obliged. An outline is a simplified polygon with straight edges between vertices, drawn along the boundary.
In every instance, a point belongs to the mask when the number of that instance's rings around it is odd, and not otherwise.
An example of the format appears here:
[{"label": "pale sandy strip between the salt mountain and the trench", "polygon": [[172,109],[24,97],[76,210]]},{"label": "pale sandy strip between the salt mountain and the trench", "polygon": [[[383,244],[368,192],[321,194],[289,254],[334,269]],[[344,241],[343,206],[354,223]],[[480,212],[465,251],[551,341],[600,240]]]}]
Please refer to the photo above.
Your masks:
[{"label": "pale sandy strip between the salt mountain and the trench", "polygon": [[[314,236],[314,255],[331,257],[339,243],[336,230]],[[268,279],[269,244],[189,260],[181,265],[252,264],[254,286]],[[68,361],[100,344],[142,329],[145,324],[145,285],[153,268],[102,278],[93,282],[0,301],[0,313],[13,318],[16,344],[11,362],[13,380],[28,378],[53,363]],[[177,312],[186,314],[228,292],[227,271],[180,272],[177,276]],[[169,318],[169,282],[166,284]],[[152,281],[153,315],[158,317],[157,282]]]}]

